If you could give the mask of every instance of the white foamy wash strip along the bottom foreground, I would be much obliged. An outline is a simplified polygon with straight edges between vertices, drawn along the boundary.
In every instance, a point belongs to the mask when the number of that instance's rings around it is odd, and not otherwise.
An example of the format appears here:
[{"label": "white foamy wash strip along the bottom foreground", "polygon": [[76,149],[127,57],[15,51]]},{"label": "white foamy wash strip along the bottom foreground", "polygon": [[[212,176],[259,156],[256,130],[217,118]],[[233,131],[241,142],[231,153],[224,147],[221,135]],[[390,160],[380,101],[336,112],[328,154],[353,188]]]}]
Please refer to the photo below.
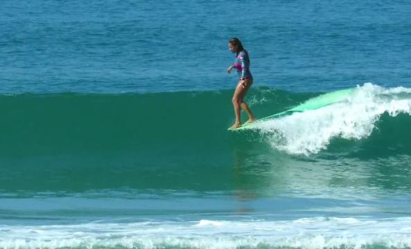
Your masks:
[{"label": "white foamy wash strip along the bottom foreground", "polygon": [[411,217],[0,226],[1,248],[410,248]]}]

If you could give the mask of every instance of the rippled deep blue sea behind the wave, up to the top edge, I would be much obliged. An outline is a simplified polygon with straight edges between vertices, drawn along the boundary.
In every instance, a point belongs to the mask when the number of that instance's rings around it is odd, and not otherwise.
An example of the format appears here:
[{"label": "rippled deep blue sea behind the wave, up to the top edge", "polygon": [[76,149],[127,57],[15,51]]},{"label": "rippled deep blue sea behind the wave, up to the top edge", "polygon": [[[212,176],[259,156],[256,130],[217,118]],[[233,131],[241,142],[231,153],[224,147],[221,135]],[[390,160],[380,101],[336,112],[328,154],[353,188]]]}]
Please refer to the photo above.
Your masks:
[{"label": "rippled deep blue sea behind the wave, up to the top edge", "polygon": [[410,86],[408,1],[3,1],[2,93]]}]

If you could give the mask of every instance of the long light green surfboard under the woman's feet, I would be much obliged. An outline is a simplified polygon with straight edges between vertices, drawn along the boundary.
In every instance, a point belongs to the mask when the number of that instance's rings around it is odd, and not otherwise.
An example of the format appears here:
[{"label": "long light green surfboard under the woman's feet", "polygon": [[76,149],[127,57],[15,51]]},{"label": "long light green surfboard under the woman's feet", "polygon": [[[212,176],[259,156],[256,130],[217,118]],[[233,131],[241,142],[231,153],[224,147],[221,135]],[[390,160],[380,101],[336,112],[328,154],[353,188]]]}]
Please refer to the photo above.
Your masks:
[{"label": "long light green surfboard under the woman's feet", "polygon": [[297,107],[293,107],[292,109],[282,111],[281,113],[275,113],[265,118],[260,118],[250,124],[243,124],[241,127],[238,127],[236,129],[229,128],[229,131],[253,129],[254,127],[256,127],[256,125],[258,125],[260,122],[263,122],[265,120],[287,116],[287,115],[290,115],[296,112],[303,112],[303,111],[308,111],[308,110],[319,109],[321,107],[325,107],[329,104],[333,104],[333,103],[343,100],[345,97],[347,97],[347,95],[350,95],[353,91],[354,89],[343,89],[343,90],[333,91],[331,93],[325,93],[315,98],[311,98],[307,100],[306,102],[304,102],[303,104],[299,104]]}]

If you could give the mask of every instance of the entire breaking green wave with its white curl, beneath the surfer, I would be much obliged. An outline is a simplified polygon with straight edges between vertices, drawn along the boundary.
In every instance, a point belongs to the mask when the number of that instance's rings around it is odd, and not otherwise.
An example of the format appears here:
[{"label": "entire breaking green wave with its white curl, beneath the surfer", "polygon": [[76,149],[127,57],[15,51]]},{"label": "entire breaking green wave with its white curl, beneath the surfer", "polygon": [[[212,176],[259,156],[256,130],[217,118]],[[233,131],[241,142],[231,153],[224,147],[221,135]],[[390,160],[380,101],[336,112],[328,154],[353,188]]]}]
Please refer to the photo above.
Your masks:
[{"label": "entire breaking green wave with its white curl, beneath the surfer", "polygon": [[[241,132],[227,131],[234,121],[231,94],[1,95],[3,192],[233,190],[232,165],[383,159],[400,169],[411,153],[411,89],[364,84],[342,102]],[[263,117],[320,94],[260,88],[247,102]]]}]

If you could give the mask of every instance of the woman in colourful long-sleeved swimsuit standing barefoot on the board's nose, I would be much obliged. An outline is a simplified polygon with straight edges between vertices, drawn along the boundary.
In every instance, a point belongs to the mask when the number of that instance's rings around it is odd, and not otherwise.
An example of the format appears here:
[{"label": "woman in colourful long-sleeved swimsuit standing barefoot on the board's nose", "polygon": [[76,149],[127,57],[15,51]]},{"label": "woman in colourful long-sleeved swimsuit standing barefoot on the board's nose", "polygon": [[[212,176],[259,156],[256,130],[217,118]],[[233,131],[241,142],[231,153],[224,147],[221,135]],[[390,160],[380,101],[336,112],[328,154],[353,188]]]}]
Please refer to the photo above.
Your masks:
[{"label": "woman in colourful long-sleeved swimsuit standing barefoot on the board's nose", "polygon": [[238,84],[233,95],[233,105],[234,113],[236,113],[236,122],[230,127],[230,129],[236,129],[241,127],[241,109],[243,109],[248,114],[248,120],[245,124],[254,122],[256,119],[252,114],[250,107],[244,102],[244,96],[250,89],[253,79],[250,72],[250,57],[248,56],[247,50],[243,47],[238,38],[232,38],[228,42],[229,50],[232,53],[236,53],[236,60],[233,66],[229,66],[227,73],[231,73],[233,68],[236,68],[238,73]]}]

